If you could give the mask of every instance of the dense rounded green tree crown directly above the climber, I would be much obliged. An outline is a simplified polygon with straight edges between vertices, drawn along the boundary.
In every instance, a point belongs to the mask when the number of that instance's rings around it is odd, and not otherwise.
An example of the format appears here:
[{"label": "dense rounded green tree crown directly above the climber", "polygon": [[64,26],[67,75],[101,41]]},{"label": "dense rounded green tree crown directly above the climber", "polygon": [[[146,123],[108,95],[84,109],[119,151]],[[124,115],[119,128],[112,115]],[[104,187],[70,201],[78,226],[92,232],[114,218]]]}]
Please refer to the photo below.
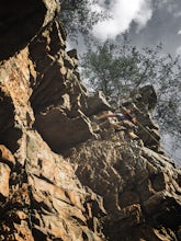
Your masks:
[{"label": "dense rounded green tree crown directly above the climber", "polygon": [[[93,50],[92,50],[93,49]],[[131,45],[127,35],[122,45],[108,39],[103,45],[94,42],[81,57],[84,78],[105,95],[122,96],[143,83],[148,83],[158,74],[158,59],[161,46],[142,49]]]}]

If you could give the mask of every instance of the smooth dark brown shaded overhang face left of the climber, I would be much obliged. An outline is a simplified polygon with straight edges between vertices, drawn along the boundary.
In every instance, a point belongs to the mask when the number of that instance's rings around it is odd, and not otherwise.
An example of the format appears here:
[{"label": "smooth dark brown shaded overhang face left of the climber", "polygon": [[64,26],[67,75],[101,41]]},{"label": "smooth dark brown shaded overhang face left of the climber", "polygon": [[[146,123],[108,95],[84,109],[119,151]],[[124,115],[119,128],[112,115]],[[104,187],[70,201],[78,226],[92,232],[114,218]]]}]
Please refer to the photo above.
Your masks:
[{"label": "smooth dark brown shaded overhang face left of the climber", "polygon": [[58,107],[36,115],[36,127],[44,140],[56,152],[95,137],[90,120],[83,114],[69,118]]}]

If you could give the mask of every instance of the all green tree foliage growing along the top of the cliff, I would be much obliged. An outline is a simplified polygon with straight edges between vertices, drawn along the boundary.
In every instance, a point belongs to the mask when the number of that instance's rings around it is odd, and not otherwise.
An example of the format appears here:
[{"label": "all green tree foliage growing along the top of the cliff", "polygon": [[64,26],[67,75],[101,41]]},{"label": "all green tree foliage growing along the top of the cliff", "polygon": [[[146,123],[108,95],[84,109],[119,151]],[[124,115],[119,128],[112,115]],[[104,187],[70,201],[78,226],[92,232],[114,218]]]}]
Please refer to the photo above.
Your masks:
[{"label": "all green tree foliage growing along the top of the cliff", "polygon": [[[139,49],[133,46],[128,35],[122,43],[106,39],[104,43],[92,38],[91,31],[99,21],[109,18],[105,12],[92,9],[97,0],[70,0],[61,2],[61,14],[69,37],[77,39],[81,34],[86,50],[81,56],[82,79],[90,91],[103,91],[112,102],[120,103],[129,92],[150,83],[157,89],[155,117],[162,135],[174,140],[172,149],[181,145],[181,65],[179,57],[163,53],[160,44],[155,48]],[[92,11],[90,11],[90,9]]]}]

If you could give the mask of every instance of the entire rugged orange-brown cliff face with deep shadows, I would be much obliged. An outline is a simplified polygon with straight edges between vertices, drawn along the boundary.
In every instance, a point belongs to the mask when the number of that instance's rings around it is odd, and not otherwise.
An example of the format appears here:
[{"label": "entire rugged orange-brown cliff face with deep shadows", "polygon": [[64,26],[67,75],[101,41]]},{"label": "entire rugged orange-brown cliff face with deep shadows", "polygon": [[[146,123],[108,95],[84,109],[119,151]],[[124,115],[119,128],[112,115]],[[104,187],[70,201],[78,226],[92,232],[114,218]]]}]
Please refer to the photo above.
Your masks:
[{"label": "entire rugged orange-brown cliff face with deep shadows", "polygon": [[138,119],[132,139],[128,126],[99,118],[111,106],[81,83],[57,2],[8,3],[0,8],[0,240],[181,240],[181,170],[160,148],[152,87],[123,103]]}]

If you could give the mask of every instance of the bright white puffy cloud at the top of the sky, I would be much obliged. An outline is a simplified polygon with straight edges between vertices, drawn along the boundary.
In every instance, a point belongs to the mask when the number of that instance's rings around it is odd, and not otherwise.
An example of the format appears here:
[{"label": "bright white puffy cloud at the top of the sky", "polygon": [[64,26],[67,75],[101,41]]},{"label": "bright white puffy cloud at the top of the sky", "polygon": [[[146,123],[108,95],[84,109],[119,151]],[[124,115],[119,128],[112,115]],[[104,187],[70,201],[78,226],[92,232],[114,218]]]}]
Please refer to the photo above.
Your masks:
[{"label": "bright white puffy cloud at the top of the sky", "polygon": [[[102,0],[101,5],[94,8],[103,10]],[[113,19],[99,22],[93,28],[93,35],[100,39],[115,38],[116,35],[127,31],[133,21],[137,23],[139,31],[152,15],[150,0],[112,0],[109,10]]]}]

